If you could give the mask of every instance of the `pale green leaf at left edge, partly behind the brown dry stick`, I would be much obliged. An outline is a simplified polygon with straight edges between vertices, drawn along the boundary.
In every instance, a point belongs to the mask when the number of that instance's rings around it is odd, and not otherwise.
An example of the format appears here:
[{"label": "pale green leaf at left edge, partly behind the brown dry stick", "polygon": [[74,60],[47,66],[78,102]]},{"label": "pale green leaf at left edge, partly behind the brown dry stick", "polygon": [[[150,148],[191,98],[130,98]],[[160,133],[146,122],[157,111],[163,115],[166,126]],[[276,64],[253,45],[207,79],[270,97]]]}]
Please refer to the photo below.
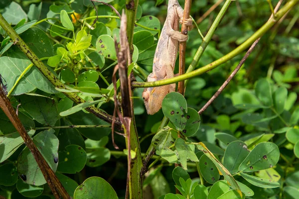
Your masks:
[{"label": "pale green leaf at left edge, partly behind the brown dry stick", "polygon": [[[34,133],[34,129],[27,131],[30,137]],[[0,163],[9,158],[23,143],[24,140],[18,132],[0,136]]]}]

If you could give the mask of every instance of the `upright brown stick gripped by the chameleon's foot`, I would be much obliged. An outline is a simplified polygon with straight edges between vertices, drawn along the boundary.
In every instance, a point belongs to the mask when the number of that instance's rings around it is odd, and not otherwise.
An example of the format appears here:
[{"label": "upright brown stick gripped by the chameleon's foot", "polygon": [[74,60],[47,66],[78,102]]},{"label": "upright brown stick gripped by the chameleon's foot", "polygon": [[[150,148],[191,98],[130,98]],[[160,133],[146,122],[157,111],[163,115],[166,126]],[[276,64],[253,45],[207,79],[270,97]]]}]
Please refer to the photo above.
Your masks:
[{"label": "upright brown stick gripped by the chameleon's foot", "polygon": [[[183,22],[182,22],[182,29],[181,29],[181,34],[184,35],[188,34],[188,26],[184,24],[184,20],[188,19],[190,16],[191,2],[192,0],[185,0],[184,15],[183,15]],[[179,75],[185,74],[185,54],[186,54],[186,42],[181,42],[179,44],[179,69],[178,69]],[[184,88],[185,88],[184,83],[185,81],[179,82],[177,87],[177,92],[182,95],[184,95]]]}]

